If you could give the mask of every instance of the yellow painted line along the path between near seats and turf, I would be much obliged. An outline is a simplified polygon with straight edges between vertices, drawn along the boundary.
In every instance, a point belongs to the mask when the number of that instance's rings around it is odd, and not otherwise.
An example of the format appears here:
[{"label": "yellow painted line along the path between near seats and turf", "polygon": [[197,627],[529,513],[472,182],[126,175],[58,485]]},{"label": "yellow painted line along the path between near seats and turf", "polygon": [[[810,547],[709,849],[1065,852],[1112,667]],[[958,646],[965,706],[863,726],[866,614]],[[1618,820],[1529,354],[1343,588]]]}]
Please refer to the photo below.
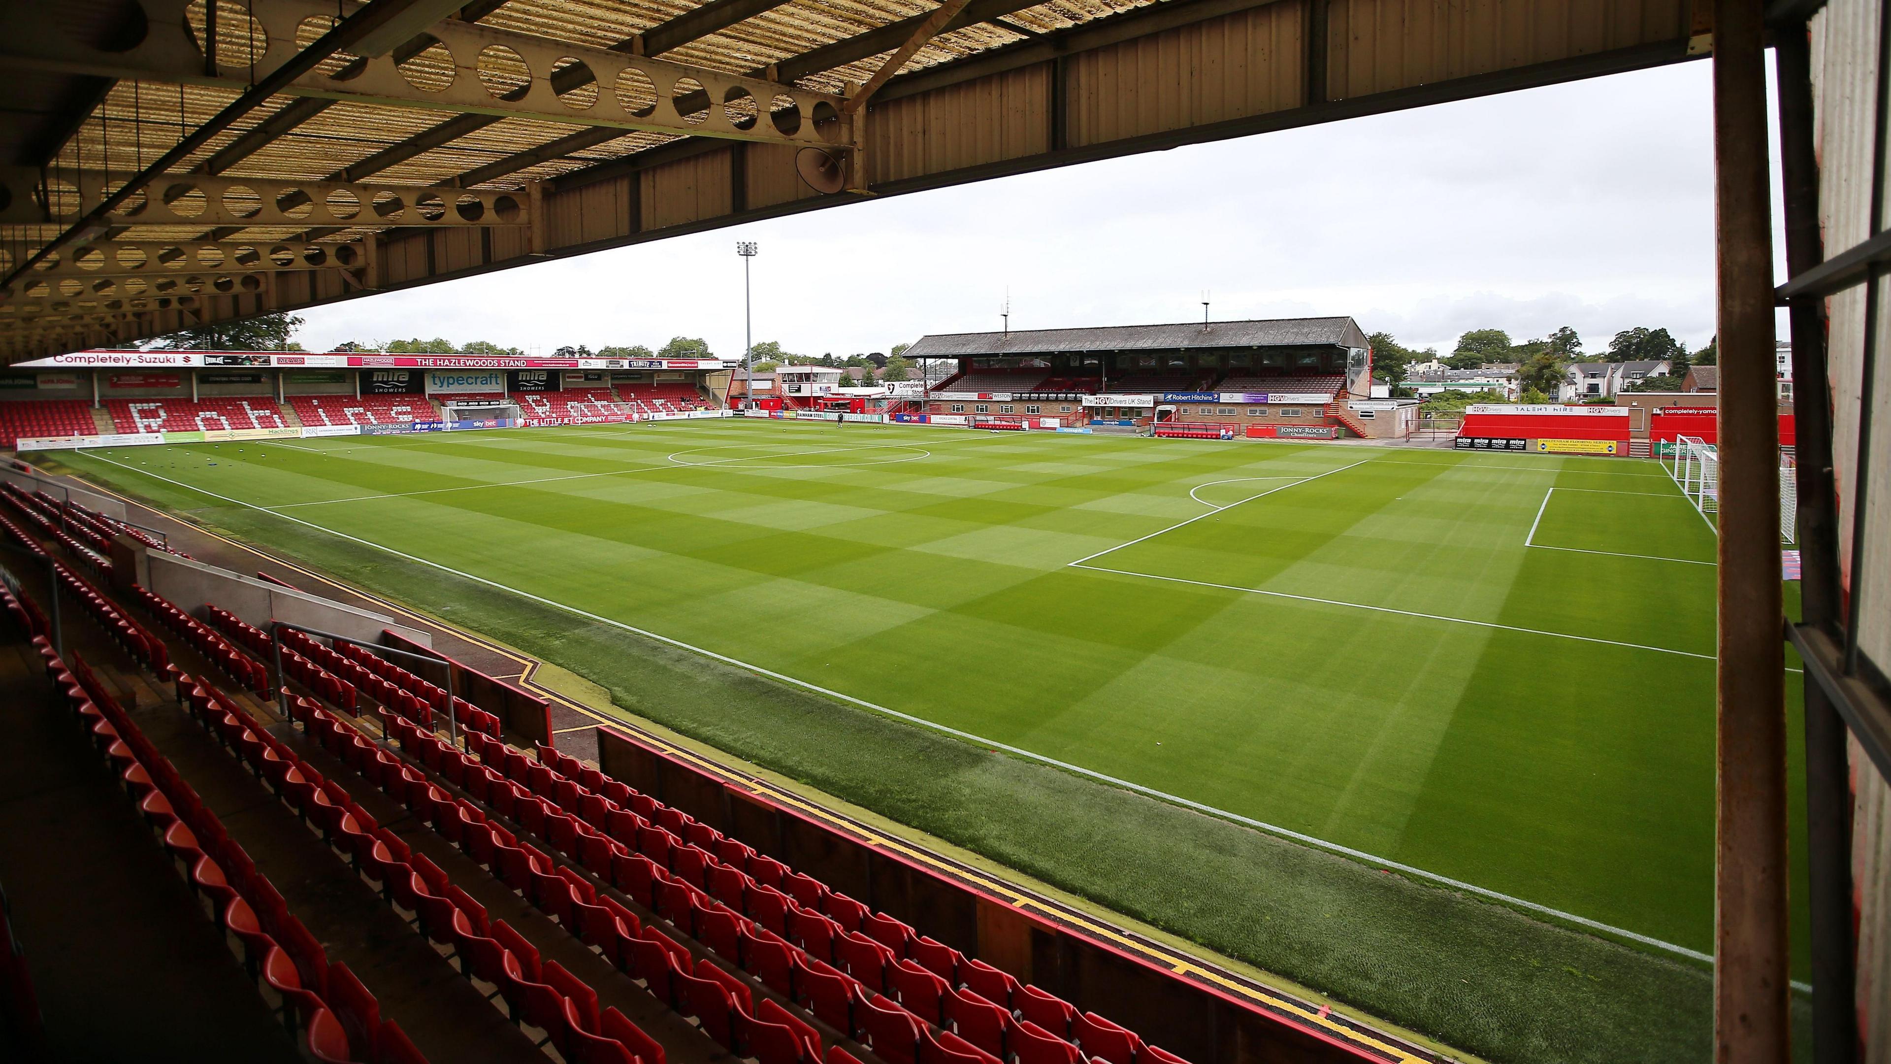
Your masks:
[{"label": "yellow painted line along the path between near seats and turf", "polygon": [[[74,479],[83,481],[83,477],[74,477]],[[91,487],[91,481],[83,481],[83,483]],[[433,619],[433,617],[425,617],[425,615],[416,613],[416,612],[412,612],[412,610],[408,610],[408,608],[405,608],[405,606],[401,606],[397,602],[390,602],[390,600],[386,600],[386,598],[382,598],[378,594],[371,594],[371,593],[365,593],[365,591],[361,591],[357,587],[350,587],[346,583],[331,579],[331,577],[327,577],[327,576],[323,576],[320,572],[314,572],[314,570],[310,570],[310,568],[306,568],[303,564],[297,564],[293,560],[278,559],[276,555],[267,555],[267,553],[252,547],[250,543],[244,543],[244,541],[238,541],[238,540],[231,540],[229,536],[223,536],[221,532],[216,532],[212,528],[204,528],[202,524],[197,524],[195,521],[185,521],[180,515],[155,509],[155,507],[146,505],[146,504],[142,504],[142,502],[138,502],[134,498],[123,496],[123,494],[119,494],[119,492],[115,492],[112,488],[96,487],[95,490],[100,490],[102,494],[110,494],[110,496],[113,496],[113,498],[117,498],[121,502],[136,505],[140,509],[149,509],[153,513],[163,513],[165,517],[168,517],[172,521],[180,521],[183,524],[189,524],[191,528],[195,528],[197,532],[200,532],[204,536],[210,536],[212,540],[219,540],[219,541],[229,543],[231,547],[236,547],[240,551],[248,551],[248,553],[252,553],[252,555],[255,555],[255,557],[259,557],[259,559],[263,559],[263,560],[267,560],[270,564],[280,564],[280,566],[284,566],[287,570],[299,572],[299,574],[303,574],[303,576],[306,576],[310,579],[316,579],[320,583],[325,583],[325,585],[335,587],[338,591],[344,591],[348,594],[356,594],[356,596],[367,598],[371,602],[378,602],[384,608],[388,608],[390,612],[393,612],[393,613],[397,613],[401,617],[407,617],[410,621],[416,621],[420,625],[433,627],[433,629],[439,629],[439,630],[444,630],[444,632],[452,632],[454,636],[461,638],[467,644],[478,646],[478,647],[482,647],[482,649],[490,651],[490,653],[495,653],[499,657],[505,657],[505,659],[520,663],[520,666],[522,666],[522,672],[518,674],[520,685],[529,687],[531,691],[545,695],[548,700],[558,702],[560,706],[564,706],[564,708],[567,708],[571,712],[577,712],[581,716],[592,718],[592,719],[596,719],[599,723],[635,729],[635,725],[632,725],[630,721],[624,721],[620,718],[613,718],[613,716],[601,714],[601,712],[598,712],[598,710],[594,710],[594,708],[590,708],[590,706],[586,706],[582,702],[573,700],[571,697],[567,697],[567,695],[564,695],[560,691],[552,691],[548,687],[543,687],[543,685],[535,683],[531,680],[531,676],[537,672],[539,661],[533,659],[533,657],[526,657],[522,653],[512,651],[511,647],[494,644],[494,642],[490,642],[488,638],[480,636],[477,632],[469,632],[469,630],[461,629],[460,625],[454,625],[454,623],[448,623],[448,621],[439,621],[439,619]],[[569,733],[569,731],[584,731],[586,727],[592,727],[592,725],[567,727],[567,729],[560,729],[554,735],[564,735],[564,733]],[[722,765],[717,765],[715,761],[709,761],[707,757],[696,754],[694,750],[685,750],[685,748],[679,748],[679,746],[675,746],[671,742],[666,742],[666,740],[662,740],[662,738],[658,738],[654,735],[643,733],[641,729],[637,729],[637,731],[639,731],[639,740],[641,742],[647,742],[647,744],[658,748],[660,752],[675,755],[675,757],[679,757],[683,761],[690,761],[694,765],[700,765],[700,767],[707,769],[711,774],[715,774],[715,776],[719,776],[722,780],[743,784],[743,780],[739,776],[736,776],[732,771],[724,769]],[[1203,979],[1206,983],[1212,983],[1212,984],[1216,984],[1220,988],[1225,988],[1225,990],[1229,990],[1233,994],[1239,994],[1239,996],[1248,998],[1252,1002],[1259,1002],[1259,1003],[1263,1003],[1263,1005],[1267,1005],[1271,1009],[1278,1009],[1282,1013],[1290,1013],[1290,1015],[1299,1017],[1299,1019],[1303,1019],[1303,1020],[1307,1020],[1310,1024],[1318,1024],[1322,1028],[1327,1028],[1327,1030],[1331,1030],[1335,1036],[1339,1036],[1345,1041],[1377,1049],[1377,1051],[1392,1056],[1399,1064],[1428,1064],[1422,1056],[1413,1056],[1411,1053],[1405,1053],[1403,1049],[1399,1049],[1396,1045],[1388,1045],[1384,1041],[1379,1041],[1377,1037],[1373,1037],[1373,1036],[1369,1036],[1369,1034],[1365,1034],[1365,1032],[1362,1032],[1358,1028],[1350,1028],[1350,1026],[1345,1026],[1345,1024],[1329,1020],[1327,1015],[1326,1015],[1329,1009],[1312,1011],[1312,1009],[1307,1009],[1305,1005],[1299,1005],[1299,1003],[1295,1003],[1295,1002],[1292,1002],[1292,1000],[1288,1000],[1284,996],[1275,996],[1275,994],[1258,990],[1258,988],[1248,986],[1244,983],[1227,979],[1227,977],[1223,977],[1223,975],[1220,975],[1216,971],[1193,967],[1188,962],[1176,962],[1172,956],[1165,954],[1163,950],[1157,950],[1157,949],[1152,949],[1152,947],[1148,947],[1144,943],[1129,939],[1121,931],[1118,931],[1118,930],[1114,930],[1114,928],[1110,928],[1106,924],[1097,924],[1097,922],[1082,916],[1074,909],[1055,909],[1051,905],[1040,903],[1038,899],[1034,899],[1034,897],[1031,897],[1027,894],[1019,894],[1019,890],[1015,886],[1010,886],[1010,884],[1006,884],[1004,880],[998,880],[998,878],[991,878],[983,871],[976,871],[976,869],[968,869],[968,867],[959,867],[959,865],[947,863],[946,860],[942,860],[942,858],[938,858],[938,856],[934,856],[934,854],[930,854],[927,850],[913,848],[913,846],[910,846],[910,844],[906,844],[902,841],[883,839],[883,837],[879,837],[879,835],[876,835],[872,831],[866,831],[866,829],[862,829],[862,827],[859,827],[859,825],[855,825],[855,824],[840,818],[840,814],[836,814],[836,812],[832,812],[828,808],[823,808],[823,807],[819,807],[815,803],[809,803],[807,799],[804,799],[800,795],[794,795],[794,793],[790,793],[787,789],[777,789],[777,788],[766,784],[766,780],[756,780],[756,784],[760,784],[760,786],[758,788],[751,788],[751,789],[762,791],[762,788],[766,788],[764,797],[768,797],[770,801],[779,801],[781,805],[789,805],[789,807],[806,810],[811,816],[815,816],[817,820],[821,820],[821,822],[824,822],[824,824],[828,824],[828,825],[832,825],[832,827],[836,827],[840,831],[845,831],[847,835],[855,835],[855,837],[866,841],[868,844],[883,846],[887,850],[893,850],[893,852],[898,852],[902,856],[908,856],[915,863],[923,863],[923,865],[928,865],[932,869],[938,869],[940,873],[947,875],[949,878],[970,882],[970,884],[974,884],[974,886],[978,886],[978,888],[981,888],[981,890],[985,890],[989,894],[998,896],[1000,899],[1008,899],[1012,903],[1012,907],[1015,907],[1015,909],[1025,909],[1025,907],[1038,909],[1044,914],[1051,916],[1053,920],[1076,926],[1076,928],[1080,928],[1080,930],[1084,930],[1084,931],[1087,931],[1091,935],[1097,935],[1101,939],[1106,939],[1106,941],[1110,941],[1110,943],[1125,949],[1127,952],[1140,954],[1144,958],[1150,958],[1150,960],[1157,962],[1159,966],[1171,967],[1172,971],[1176,971],[1180,975],[1195,975],[1195,977],[1199,977],[1199,979]]]}]

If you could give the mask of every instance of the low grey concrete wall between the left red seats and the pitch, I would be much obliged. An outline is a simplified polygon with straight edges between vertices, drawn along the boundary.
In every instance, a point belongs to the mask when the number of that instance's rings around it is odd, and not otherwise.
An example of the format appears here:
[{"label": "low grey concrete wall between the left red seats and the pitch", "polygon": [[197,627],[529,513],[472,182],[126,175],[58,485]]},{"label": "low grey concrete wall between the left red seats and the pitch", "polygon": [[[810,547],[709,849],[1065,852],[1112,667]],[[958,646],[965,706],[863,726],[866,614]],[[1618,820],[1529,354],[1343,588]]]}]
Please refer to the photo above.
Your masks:
[{"label": "low grey concrete wall between the left red seats and the pitch", "polygon": [[187,613],[200,615],[204,604],[216,604],[263,630],[276,619],[371,644],[380,642],[382,630],[393,630],[422,646],[433,646],[433,636],[408,629],[393,617],[163,551],[140,551],[138,583]]}]

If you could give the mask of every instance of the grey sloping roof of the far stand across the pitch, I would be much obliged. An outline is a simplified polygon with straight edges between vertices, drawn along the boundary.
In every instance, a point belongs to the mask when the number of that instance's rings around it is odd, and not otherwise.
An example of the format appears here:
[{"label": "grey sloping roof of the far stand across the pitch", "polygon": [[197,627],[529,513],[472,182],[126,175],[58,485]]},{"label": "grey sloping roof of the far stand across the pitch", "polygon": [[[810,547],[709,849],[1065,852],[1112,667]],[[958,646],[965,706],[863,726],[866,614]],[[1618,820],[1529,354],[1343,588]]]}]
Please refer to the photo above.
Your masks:
[{"label": "grey sloping roof of the far stand across the pitch", "polygon": [[991,354],[1057,354],[1080,350],[1197,350],[1250,346],[1367,346],[1352,318],[1259,318],[1252,322],[1174,322],[1167,326],[1095,326],[1019,329],[1010,333],[938,333],[919,337],[906,358],[972,358]]}]

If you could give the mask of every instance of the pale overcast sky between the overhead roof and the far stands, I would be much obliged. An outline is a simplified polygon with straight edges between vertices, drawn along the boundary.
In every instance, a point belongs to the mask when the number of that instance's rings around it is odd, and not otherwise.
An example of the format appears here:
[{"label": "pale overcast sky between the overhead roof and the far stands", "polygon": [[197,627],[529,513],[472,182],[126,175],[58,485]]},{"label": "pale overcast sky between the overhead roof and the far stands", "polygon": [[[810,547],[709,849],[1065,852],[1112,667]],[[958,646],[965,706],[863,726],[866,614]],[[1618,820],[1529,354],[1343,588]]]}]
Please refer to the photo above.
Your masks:
[{"label": "pale overcast sky between the overhead roof and the far stands", "polygon": [[[790,352],[925,333],[1352,314],[1450,350],[1573,326],[1713,335],[1706,61],[675,237],[304,310],[301,341],[442,335],[528,354],[703,337]],[[1768,64],[1770,74],[1770,64]],[[1776,150],[1778,153],[1778,150]],[[1778,187],[1778,186],[1776,186]],[[1778,204],[1776,204],[1778,229]],[[1778,244],[1778,239],[1776,239]],[[1779,257],[1776,250],[1776,257]]]}]

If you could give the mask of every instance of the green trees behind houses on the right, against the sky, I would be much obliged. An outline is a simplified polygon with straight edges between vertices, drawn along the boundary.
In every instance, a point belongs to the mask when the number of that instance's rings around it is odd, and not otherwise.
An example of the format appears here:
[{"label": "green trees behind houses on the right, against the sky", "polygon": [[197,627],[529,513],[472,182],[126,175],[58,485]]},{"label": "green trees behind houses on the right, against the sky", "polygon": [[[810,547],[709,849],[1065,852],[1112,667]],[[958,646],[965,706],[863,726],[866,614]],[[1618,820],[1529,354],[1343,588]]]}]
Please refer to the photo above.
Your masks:
[{"label": "green trees behind houses on the right, against the sky", "polygon": [[[1414,350],[1401,345],[1392,333],[1373,333],[1373,377],[1392,386],[1394,396],[1409,396],[1401,388],[1411,367],[1422,362],[1441,362],[1450,369],[1481,369],[1486,365],[1517,365],[1517,379],[1522,384],[1522,401],[1547,403],[1560,390],[1570,365],[1583,362],[1583,337],[1573,328],[1564,326],[1547,337],[1515,343],[1503,329],[1467,329],[1458,337],[1458,346],[1450,354],[1439,356],[1435,346]],[[1668,362],[1670,373],[1645,377],[1630,384],[1630,392],[1679,392],[1681,379],[1692,365],[1713,365],[1719,358],[1719,337],[1696,352],[1677,341],[1668,329],[1636,326],[1622,329],[1609,339],[1605,350],[1592,362]]]}]

